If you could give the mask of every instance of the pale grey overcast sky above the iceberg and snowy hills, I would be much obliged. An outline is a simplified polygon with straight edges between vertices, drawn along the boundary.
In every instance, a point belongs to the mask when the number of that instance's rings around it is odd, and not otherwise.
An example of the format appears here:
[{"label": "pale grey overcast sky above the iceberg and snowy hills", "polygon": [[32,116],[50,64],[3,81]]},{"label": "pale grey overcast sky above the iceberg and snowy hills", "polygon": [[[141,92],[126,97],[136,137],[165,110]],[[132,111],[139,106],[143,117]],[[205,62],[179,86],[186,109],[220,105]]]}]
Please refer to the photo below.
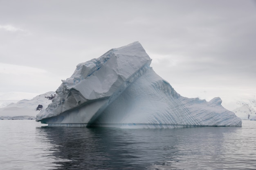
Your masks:
[{"label": "pale grey overcast sky above the iceberg and snowy hills", "polygon": [[55,91],[133,41],[182,96],[256,96],[255,0],[0,0],[0,94]]}]

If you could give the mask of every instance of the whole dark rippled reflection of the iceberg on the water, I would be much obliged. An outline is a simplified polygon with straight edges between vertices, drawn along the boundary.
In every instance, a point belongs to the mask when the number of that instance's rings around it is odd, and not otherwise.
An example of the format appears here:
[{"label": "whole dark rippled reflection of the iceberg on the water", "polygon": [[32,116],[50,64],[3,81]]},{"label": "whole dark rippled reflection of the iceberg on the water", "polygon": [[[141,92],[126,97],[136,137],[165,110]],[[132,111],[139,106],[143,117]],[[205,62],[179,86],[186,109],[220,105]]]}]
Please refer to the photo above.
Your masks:
[{"label": "whole dark rippled reflection of the iceberg on the water", "polygon": [[227,163],[229,154],[234,151],[230,147],[234,142],[226,139],[227,134],[234,134],[238,129],[41,127],[36,130],[52,144],[49,150],[56,158],[57,168],[116,170],[207,169],[214,166],[221,169],[221,163]]}]

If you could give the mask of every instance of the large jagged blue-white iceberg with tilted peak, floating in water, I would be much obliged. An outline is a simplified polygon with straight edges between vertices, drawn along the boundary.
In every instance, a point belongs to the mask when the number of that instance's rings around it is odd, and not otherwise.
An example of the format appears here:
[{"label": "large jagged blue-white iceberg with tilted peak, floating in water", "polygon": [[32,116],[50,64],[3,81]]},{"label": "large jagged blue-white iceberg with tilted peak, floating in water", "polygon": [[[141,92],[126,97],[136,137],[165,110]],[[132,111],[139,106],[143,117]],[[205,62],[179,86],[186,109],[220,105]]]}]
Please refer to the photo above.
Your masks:
[{"label": "large jagged blue-white iceberg with tilted peak, floating in water", "polygon": [[241,119],[222,107],[220,98],[207,102],[182,97],[150,63],[139,42],[80,63],[36,121],[122,128],[241,126]]}]

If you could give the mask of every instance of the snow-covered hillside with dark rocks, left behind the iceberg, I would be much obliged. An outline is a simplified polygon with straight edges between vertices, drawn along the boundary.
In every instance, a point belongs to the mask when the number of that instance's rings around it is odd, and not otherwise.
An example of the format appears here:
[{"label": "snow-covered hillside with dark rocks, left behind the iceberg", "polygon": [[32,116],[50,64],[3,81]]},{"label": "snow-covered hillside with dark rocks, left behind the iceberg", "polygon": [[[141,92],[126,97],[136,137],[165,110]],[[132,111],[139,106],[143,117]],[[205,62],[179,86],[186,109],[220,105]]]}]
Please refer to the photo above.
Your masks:
[{"label": "snow-covered hillside with dark rocks, left behind the iceberg", "polygon": [[38,105],[43,105],[44,108],[52,102],[51,100],[45,98],[46,96],[50,96],[51,94],[55,94],[55,92],[40,94],[32,98],[31,100],[23,99],[18,101],[17,103],[11,103],[6,107],[0,108],[0,119],[35,119],[36,115],[39,113],[39,110],[36,110]]}]

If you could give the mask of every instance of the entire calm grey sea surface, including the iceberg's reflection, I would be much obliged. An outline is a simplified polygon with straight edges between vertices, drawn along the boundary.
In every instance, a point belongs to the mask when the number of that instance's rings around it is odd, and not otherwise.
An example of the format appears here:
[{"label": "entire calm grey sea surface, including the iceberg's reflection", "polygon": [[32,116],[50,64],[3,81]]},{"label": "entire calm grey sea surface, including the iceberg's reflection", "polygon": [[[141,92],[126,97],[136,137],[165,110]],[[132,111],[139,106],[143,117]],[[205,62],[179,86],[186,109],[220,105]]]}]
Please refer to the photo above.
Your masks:
[{"label": "entire calm grey sea surface, including the iceberg's reflection", "polygon": [[0,169],[256,169],[256,121],[242,127],[115,129],[0,120]]}]

